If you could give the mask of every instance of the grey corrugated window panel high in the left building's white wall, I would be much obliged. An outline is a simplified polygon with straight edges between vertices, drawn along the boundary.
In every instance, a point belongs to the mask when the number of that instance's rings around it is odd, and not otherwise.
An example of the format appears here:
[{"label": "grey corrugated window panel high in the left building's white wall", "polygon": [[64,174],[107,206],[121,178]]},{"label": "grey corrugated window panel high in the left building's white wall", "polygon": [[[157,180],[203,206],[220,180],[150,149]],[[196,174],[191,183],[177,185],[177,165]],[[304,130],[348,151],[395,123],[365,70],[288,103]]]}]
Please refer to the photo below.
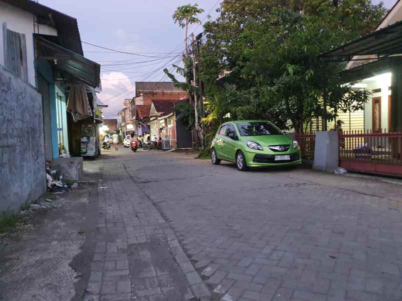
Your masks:
[{"label": "grey corrugated window panel high in the left building's white wall", "polygon": [[15,76],[28,81],[25,34],[7,29],[6,22],[2,27],[4,67]]}]

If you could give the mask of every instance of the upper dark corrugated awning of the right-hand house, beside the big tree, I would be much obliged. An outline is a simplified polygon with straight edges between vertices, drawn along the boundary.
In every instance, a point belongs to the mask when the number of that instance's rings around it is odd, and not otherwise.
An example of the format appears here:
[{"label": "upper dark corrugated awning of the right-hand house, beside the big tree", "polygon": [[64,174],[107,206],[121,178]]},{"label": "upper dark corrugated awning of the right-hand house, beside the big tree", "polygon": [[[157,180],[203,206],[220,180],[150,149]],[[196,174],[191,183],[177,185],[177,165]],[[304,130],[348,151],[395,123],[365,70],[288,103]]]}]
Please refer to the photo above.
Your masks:
[{"label": "upper dark corrugated awning of the right-hand house, beside the big tree", "polygon": [[399,21],[321,53],[319,57],[330,61],[350,61],[355,55],[376,55],[378,58],[401,53],[402,21]]}]

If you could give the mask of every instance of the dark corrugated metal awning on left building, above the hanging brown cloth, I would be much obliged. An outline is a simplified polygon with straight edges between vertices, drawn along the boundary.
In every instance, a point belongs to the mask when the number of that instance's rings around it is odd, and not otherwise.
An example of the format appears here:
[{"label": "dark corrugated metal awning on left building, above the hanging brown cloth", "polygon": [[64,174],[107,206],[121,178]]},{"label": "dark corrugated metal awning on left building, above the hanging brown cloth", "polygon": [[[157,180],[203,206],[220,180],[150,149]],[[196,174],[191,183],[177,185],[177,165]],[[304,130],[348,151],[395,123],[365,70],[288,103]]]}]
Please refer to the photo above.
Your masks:
[{"label": "dark corrugated metal awning on left building, above the hanging brown cloth", "polygon": [[64,71],[92,87],[99,86],[100,65],[98,63],[38,35],[36,35],[36,41],[42,53],[38,57],[39,60],[48,60],[54,68]]}]

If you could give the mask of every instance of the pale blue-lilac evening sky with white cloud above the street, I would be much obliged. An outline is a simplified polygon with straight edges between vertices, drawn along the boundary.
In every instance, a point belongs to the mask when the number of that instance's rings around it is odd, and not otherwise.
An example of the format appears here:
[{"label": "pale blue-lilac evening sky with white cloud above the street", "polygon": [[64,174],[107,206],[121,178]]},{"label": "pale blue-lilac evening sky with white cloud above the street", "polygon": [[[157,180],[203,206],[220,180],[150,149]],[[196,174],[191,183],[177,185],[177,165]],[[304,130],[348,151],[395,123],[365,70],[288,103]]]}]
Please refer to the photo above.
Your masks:
[{"label": "pale blue-lilac evening sky with white cloud above the street", "polygon": [[[390,8],[396,0],[383,0]],[[123,54],[82,43],[84,56],[101,64],[102,92],[99,98],[108,105],[104,118],[116,118],[125,98],[134,96],[135,81],[169,81],[163,68],[180,63],[185,49],[184,29],[172,20],[177,6],[192,0],[39,0],[39,3],[68,14],[78,21],[82,42],[88,42]],[[214,19],[220,0],[197,0],[205,10],[200,19]],[[378,3],[378,0],[372,0]],[[189,32],[201,32],[193,24]]]}]

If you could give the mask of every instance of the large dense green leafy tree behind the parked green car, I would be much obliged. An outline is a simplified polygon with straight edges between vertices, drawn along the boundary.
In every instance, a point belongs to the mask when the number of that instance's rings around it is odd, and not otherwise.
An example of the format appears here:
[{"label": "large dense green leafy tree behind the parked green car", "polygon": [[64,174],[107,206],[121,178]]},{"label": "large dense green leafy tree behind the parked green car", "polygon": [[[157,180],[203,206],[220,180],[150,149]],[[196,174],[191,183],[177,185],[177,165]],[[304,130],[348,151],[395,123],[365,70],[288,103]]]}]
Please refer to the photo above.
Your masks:
[{"label": "large dense green leafy tree behind the parked green car", "polygon": [[232,71],[227,79],[238,97],[232,118],[262,116],[283,129],[290,120],[302,131],[312,116],[333,119],[337,106],[367,99],[341,84],[343,64],[323,64],[318,55],[375,28],[385,13],[381,3],[223,0],[218,12],[204,24],[202,77],[214,86],[216,70]]}]

